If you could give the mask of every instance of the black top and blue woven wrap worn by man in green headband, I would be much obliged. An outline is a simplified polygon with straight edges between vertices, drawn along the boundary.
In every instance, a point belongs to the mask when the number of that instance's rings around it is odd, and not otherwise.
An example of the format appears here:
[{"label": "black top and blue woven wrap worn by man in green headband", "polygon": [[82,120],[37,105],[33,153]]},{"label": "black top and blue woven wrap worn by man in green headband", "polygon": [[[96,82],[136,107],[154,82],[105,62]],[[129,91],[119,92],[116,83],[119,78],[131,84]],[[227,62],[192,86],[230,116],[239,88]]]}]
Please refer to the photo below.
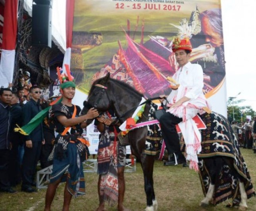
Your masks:
[{"label": "black top and blue woven wrap worn by man in green headband", "polygon": [[[79,140],[80,125],[75,125],[67,132],[67,129],[58,122],[57,116],[75,118],[81,109],[79,106],[66,106],[62,103],[52,106],[51,118],[54,118],[57,135],[54,148],[48,160],[53,160],[53,169],[50,182],[61,179],[67,181],[67,190],[75,197],[85,194],[85,179],[83,173],[83,160],[86,156],[86,146]],[[66,130],[66,131],[65,131]],[[65,131],[65,132],[64,132]]]}]

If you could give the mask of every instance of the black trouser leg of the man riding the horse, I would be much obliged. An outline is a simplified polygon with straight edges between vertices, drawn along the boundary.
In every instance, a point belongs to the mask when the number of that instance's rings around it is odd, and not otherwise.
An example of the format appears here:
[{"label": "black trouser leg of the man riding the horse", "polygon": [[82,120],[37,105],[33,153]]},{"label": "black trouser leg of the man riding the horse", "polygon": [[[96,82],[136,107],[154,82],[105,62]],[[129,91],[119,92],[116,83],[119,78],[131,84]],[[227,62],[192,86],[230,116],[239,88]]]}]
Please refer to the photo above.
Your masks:
[{"label": "black trouser leg of the man riding the horse", "polygon": [[159,119],[168,154],[181,153],[179,136],[176,130],[176,125],[181,121],[182,118],[174,116],[169,112],[166,112]]}]

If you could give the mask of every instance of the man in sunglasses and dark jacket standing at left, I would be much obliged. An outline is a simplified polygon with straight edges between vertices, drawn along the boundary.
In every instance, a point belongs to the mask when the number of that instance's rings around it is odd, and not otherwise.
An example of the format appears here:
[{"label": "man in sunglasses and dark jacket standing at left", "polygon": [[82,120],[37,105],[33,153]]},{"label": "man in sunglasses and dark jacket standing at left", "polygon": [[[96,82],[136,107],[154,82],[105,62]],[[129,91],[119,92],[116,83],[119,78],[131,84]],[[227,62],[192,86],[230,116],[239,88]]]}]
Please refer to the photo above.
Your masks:
[{"label": "man in sunglasses and dark jacket standing at left", "polygon": [[[23,108],[23,125],[41,111],[40,96],[41,91],[38,86],[32,86],[29,89],[31,100],[27,102]],[[25,151],[22,161],[22,185],[21,190],[25,192],[36,192],[32,186],[35,186],[34,175],[37,167],[37,162],[40,157],[42,143],[44,143],[44,135],[42,123],[39,124],[30,135],[25,136]]]}]

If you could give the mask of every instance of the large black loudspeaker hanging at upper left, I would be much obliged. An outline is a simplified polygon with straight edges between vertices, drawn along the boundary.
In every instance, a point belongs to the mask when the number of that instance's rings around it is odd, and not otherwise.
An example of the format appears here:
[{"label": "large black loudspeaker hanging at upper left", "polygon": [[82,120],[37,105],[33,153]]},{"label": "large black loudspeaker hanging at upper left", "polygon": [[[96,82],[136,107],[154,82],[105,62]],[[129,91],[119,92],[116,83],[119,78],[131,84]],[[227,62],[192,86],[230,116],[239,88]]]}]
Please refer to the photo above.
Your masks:
[{"label": "large black loudspeaker hanging at upper left", "polygon": [[[36,2],[34,0],[34,2]],[[42,2],[42,3],[41,3]],[[32,46],[52,47],[52,4],[50,0],[32,6]]]}]

